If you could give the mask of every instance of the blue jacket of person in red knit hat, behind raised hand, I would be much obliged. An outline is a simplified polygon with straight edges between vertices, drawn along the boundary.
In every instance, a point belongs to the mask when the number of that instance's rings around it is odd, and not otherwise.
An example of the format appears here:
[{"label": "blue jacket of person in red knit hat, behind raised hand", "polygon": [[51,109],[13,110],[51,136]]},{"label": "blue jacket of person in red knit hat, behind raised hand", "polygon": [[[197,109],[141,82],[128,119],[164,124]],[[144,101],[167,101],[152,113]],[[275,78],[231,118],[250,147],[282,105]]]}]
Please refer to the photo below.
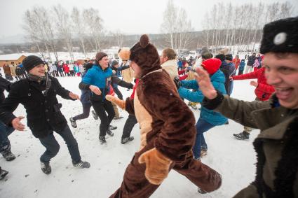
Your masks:
[{"label": "blue jacket of person in red knit hat, behind raised hand", "polygon": [[[224,87],[224,73],[218,70],[212,76],[210,76],[212,85],[215,87],[215,90],[219,90],[222,94],[226,94],[226,89]],[[195,92],[192,92],[188,89],[194,89]],[[194,102],[202,102],[204,95],[201,90],[199,90],[198,83],[196,80],[182,80],[181,87],[178,90],[180,97]],[[203,106],[201,106],[200,118],[210,123],[211,125],[223,125],[226,122],[226,117],[221,113],[211,111]]]}]

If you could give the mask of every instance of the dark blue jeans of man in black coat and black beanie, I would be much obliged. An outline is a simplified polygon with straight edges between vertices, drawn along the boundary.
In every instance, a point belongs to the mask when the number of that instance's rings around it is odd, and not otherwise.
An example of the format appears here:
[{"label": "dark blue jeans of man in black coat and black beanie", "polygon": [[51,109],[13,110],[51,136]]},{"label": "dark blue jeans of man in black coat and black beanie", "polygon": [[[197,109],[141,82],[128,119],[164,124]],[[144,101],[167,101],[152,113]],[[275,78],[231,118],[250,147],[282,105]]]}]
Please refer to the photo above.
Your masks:
[{"label": "dark blue jeans of man in black coat and black beanie", "polygon": [[[79,152],[79,146],[76,142],[76,139],[74,139],[74,136],[72,135],[72,132],[70,131],[68,125],[65,127],[65,129],[62,130],[62,132],[59,132],[60,136],[64,139],[65,143],[67,144],[67,148],[69,151],[70,156],[72,157],[72,162],[77,163],[81,161],[81,155]],[[46,147],[45,153],[41,155],[41,162],[50,162],[50,159],[55,157],[59,151],[59,143],[55,139],[55,136],[53,135],[53,132],[48,134],[45,138],[40,138],[39,141],[41,141],[41,144]]]}]

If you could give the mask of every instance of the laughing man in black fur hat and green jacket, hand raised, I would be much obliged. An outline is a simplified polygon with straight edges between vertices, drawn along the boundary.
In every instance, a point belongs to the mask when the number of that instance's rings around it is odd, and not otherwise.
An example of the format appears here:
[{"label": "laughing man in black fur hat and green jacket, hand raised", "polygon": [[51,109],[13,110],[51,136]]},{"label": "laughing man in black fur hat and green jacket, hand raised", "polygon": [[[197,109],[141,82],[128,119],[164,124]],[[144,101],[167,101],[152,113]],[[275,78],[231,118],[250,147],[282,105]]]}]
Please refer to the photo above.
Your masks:
[{"label": "laughing man in black fur hat and green jacket, hand raised", "polygon": [[298,197],[298,17],[266,24],[260,52],[267,83],[276,92],[269,101],[240,101],[224,96],[197,69],[205,95],[202,105],[227,118],[261,130],[255,181],[235,197]]}]

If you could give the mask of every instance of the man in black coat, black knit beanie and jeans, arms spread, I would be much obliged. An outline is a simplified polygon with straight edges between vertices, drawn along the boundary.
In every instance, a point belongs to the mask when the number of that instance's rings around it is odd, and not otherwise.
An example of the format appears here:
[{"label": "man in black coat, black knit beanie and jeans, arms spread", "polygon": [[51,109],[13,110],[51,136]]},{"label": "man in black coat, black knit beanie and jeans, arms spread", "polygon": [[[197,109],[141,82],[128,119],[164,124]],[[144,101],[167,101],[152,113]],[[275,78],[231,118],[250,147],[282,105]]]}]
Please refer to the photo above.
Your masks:
[{"label": "man in black coat, black knit beanie and jeans, arms spread", "polygon": [[62,115],[56,95],[64,99],[76,100],[79,96],[65,90],[56,78],[46,76],[43,61],[34,55],[26,57],[22,64],[28,72],[28,78],[11,85],[8,97],[0,105],[0,120],[14,129],[23,131],[25,125],[20,122],[22,116],[15,117],[13,111],[22,104],[27,112],[27,125],[32,134],[46,147],[40,157],[41,170],[51,173],[50,159],[59,151],[53,131],[60,134],[67,144],[74,167],[88,168],[90,164],[81,160],[78,143],[70,131],[65,117]]}]

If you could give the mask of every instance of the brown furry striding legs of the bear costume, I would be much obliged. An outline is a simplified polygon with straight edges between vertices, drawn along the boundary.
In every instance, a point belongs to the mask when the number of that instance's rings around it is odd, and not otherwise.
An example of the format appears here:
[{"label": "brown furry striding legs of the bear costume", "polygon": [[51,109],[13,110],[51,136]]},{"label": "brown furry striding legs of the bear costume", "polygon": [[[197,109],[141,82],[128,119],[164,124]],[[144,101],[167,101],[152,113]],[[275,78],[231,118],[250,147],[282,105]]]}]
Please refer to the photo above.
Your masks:
[{"label": "brown furry striding legs of the bear costume", "polygon": [[[144,175],[146,165],[138,162],[140,155],[151,148],[154,148],[154,139],[142,150],[135,153],[133,160],[131,160],[126,168],[121,187],[110,198],[150,197],[159,187],[159,185],[153,185],[147,181]],[[192,183],[206,192],[217,190],[222,184],[221,176],[217,171],[201,163],[201,161],[194,160],[191,151],[189,151],[189,155],[187,155],[184,162],[180,164],[173,162],[170,169],[174,169],[187,177]]]}]

